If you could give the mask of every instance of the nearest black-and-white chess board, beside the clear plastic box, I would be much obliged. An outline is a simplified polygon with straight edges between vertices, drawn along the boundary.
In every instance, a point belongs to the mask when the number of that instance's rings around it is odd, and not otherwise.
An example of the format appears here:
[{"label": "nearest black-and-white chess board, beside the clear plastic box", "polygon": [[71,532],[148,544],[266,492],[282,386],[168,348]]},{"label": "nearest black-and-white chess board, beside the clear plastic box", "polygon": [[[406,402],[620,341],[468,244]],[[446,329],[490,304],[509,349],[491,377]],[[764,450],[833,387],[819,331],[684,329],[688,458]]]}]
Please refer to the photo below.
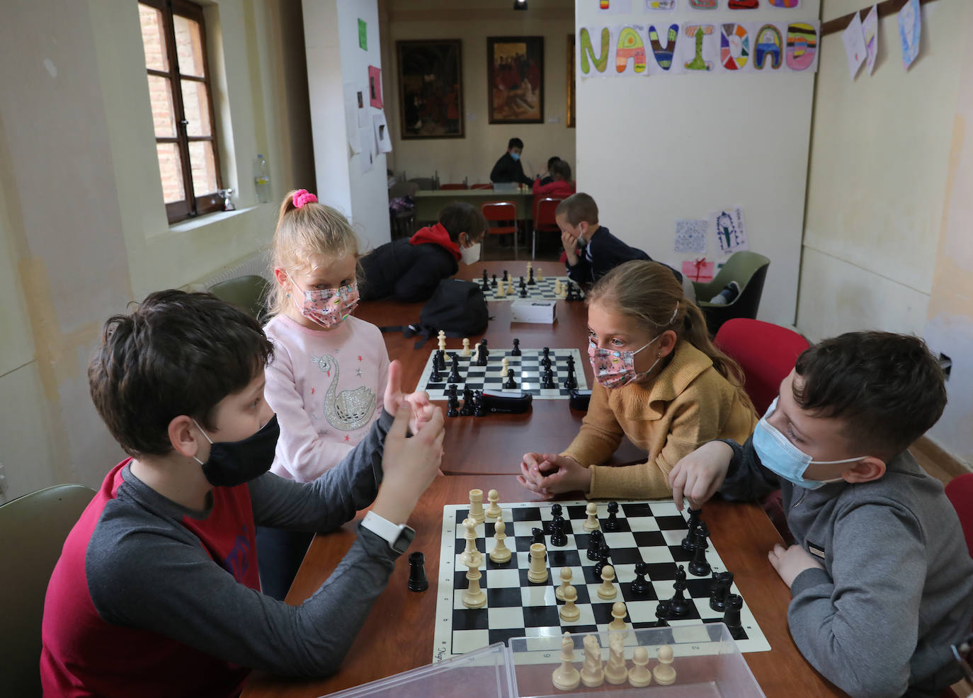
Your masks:
[{"label": "nearest black-and-white chess board, beside the clear plastic box", "polygon": [[[477,526],[477,548],[483,554],[480,585],[486,591],[486,607],[476,610],[467,609],[462,603],[462,593],[468,584],[466,567],[460,562],[466,546],[466,529],[462,521],[468,515],[469,505],[443,507],[434,661],[449,659],[492,643],[506,643],[510,638],[559,637],[565,631],[575,636],[603,632],[612,620],[612,605],[617,601],[626,603],[628,627],[657,627],[656,606],[661,600],[672,597],[676,566],[685,565],[688,571],[692,559],[692,553],[680,545],[688,531],[683,513],[671,501],[619,503],[619,530],[604,533],[605,541],[611,547],[609,562],[615,568],[615,584],[619,594],[611,601],[602,601],[597,595],[601,579],[595,576],[595,561],[587,556],[590,536],[582,528],[587,518],[586,504],[561,503],[567,544],[553,547],[550,535],[546,536],[548,580],[534,584],[527,580],[531,529],[543,527],[545,533],[550,533],[551,506],[536,502],[501,502],[506,524],[505,542],[513,556],[503,565],[492,562],[487,553],[495,544],[493,523],[487,518],[485,523]],[[703,508],[703,520],[705,515]],[[598,519],[602,526],[607,516],[607,506],[598,504]],[[726,570],[712,542],[706,550],[706,560],[712,572]],[[649,566],[647,578],[650,590],[647,596],[635,598],[631,593],[631,581],[635,578],[635,564],[642,561]],[[561,621],[559,616],[562,602],[557,600],[555,589],[560,584],[561,567],[571,568],[571,584],[578,593],[577,607],[581,617],[574,624]],[[672,643],[685,641],[679,636],[681,629],[689,633],[699,632],[701,623],[722,622],[723,614],[709,608],[711,578],[711,573],[692,576],[687,572],[685,596],[689,601],[690,613],[686,618],[668,621],[666,632],[672,634]],[[739,594],[736,583],[731,591]],[[745,598],[740,621],[744,637],[737,641],[737,646],[741,652],[771,649]]]}]

